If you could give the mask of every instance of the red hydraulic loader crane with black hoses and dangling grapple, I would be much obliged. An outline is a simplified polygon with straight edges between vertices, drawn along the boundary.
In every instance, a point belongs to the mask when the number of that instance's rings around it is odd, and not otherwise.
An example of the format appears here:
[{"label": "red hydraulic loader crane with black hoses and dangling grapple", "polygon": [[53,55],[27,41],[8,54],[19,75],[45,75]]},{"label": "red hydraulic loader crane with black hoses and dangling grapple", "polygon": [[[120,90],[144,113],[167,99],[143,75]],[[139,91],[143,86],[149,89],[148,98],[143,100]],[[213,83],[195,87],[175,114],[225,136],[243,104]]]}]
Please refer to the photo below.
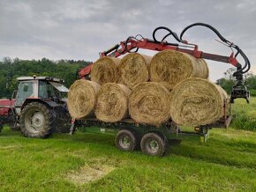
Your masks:
[{"label": "red hydraulic loader crane with black hoses and dangling grapple", "polygon": [[[229,56],[225,55],[215,55],[210,53],[205,53],[199,50],[198,45],[192,44],[189,41],[184,40],[184,33],[194,27],[194,26],[204,26],[208,29],[212,30],[220,39],[222,44],[231,48],[231,53]],[[156,33],[160,30],[165,30],[167,33],[162,37],[161,40],[157,40]],[[166,41],[167,37],[173,36],[177,43],[172,43]],[[189,55],[193,55],[196,58],[203,58],[207,60],[212,60],[216,62],[222,63],[230,63],[237,70],[233,73],[233,76],[236,78],[236,85],[233,86],[232,91],[230,92],[230,102],[234,103],[234,100],[237,98],[244,98],[248,103],[250,100],[250,92],[245,85],[244,74],[248,72],[251,68],[250,61],[245,53],[240,49],[236,44],[232,43],[231,41],[226,40],[221,33],[219,33],[215,27],[210,26],[205,23],[194,23],[190,26],[186,26],[184,30],[180,33],[179,37],[177,33],[171,31],[168,27],[159,26],[154,29],[153,32],[153,40],[144,38],[141,34],[137,34],[136,36],[129,36],[125,41],[121,41],[113,48],[109,48],[107,51],[103,51],[100,53],[100,56],[113,56],[118,57],[120,55],[124,55],[126,53],[137,52],[139,48],[148,49],[148,50],[155,50],[155,51],[162,51],[165,49],[172,49],[177,50],[179,52],[183,52]],[[234,52],[234,49],[236,53]],[[238,63],[237,56],[240,55],[244,62],[243,64]],[[79,77],[85,78],[90,74],[90,70],[92,68],[92,64],[87,66],[86,68],[79,70]]]}]

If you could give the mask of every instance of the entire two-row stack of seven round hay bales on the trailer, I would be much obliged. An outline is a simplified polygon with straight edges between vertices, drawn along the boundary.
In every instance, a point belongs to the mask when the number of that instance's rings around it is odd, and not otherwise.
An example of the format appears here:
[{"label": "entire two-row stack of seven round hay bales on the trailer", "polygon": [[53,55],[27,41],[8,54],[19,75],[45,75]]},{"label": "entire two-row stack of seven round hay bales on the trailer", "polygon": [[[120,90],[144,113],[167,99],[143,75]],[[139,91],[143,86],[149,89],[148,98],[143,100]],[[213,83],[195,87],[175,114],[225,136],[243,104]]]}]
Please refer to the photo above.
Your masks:
[{"label": "entire two-row stack of seven round hay bales on the trailer", "polygon": [[94,63],[91,78],[95,83],[79,80],[83,83],[71,86],[68,107],[75,119],[94,114],[102,122],[118,122],[130,114],[139,123],[159,125],[172,119],[198,126],[220,119],[227,98],[207,81],[204,60],[173,50],[154,57],[102,57]]}]

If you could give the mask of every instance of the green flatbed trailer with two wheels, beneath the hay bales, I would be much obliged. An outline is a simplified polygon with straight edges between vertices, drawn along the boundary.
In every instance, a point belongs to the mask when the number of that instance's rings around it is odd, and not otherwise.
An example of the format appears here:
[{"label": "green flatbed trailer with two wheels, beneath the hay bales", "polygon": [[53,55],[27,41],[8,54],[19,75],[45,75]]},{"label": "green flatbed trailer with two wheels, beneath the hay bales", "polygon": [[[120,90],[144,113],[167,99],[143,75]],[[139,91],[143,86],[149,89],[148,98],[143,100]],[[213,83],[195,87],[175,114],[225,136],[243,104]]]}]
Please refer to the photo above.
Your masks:
[{"label": "green flatbed trailer with two wheels, beneath the hay bales", "polygon": [[[232,120],[230,100],[225,100],[223,117],[218,122],[182,130],[175,122],[164,122],[159,125],[150,125],[124,119],[120,122],[102,122],[96,118],[86,118],[72,121],[72,129],[76,126],[81,132],[105,133],[115,135],[117,148],[123,151],[141,149],[147,155],[162,156],[169,148],[169,143],[176,140],[199,140],[207,142],[212,128],[227,129]],[[75,123],[76,122],[76,123]],[[76,124],[76,125],[75,125]]]}]

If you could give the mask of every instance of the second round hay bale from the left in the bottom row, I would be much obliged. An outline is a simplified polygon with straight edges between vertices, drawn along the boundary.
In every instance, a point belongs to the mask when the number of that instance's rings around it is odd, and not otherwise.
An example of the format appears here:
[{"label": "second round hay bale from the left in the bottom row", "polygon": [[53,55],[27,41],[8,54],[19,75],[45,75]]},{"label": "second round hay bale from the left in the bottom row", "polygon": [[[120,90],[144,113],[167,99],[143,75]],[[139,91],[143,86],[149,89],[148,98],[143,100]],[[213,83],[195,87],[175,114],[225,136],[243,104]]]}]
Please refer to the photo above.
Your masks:
[{"label": "second round hay bale from the left in the bottom row", "polygon": [[97,94],[95,116],[102,122],[118,122],[127,117],[130,92],[125,85],[103,85]]}]

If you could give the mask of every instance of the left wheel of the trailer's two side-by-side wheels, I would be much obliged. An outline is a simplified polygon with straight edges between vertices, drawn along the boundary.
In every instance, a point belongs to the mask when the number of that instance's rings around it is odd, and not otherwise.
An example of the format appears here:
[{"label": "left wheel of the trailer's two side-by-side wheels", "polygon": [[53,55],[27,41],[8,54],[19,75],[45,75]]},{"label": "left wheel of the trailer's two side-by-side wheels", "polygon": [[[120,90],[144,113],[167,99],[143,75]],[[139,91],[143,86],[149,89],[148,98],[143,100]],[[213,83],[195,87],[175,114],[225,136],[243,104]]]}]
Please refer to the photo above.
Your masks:
[{"label": "left wheel of the trailer's two side-by-side wheels", "polygon": [[128,129],[121,129],[117,133],[116,146],[120,150],[133,151],[138,146],[139,139],[135,137],[132,131]]}]

